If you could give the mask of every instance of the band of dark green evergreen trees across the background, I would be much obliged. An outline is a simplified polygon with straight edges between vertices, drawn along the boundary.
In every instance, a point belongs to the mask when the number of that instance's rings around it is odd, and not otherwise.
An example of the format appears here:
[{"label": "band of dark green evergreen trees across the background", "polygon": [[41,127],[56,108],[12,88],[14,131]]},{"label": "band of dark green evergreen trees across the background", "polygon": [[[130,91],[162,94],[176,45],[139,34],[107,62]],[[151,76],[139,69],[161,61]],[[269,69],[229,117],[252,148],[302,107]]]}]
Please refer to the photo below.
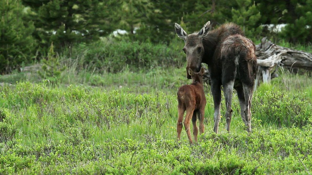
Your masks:
[{"label": "band of dark green evergreen trees across the background", "polygon": [[[213,27],[232,21],[254,40],[268,35],[308,43],[311,3],[312,0],[2,0],[0,73],[46,57],[52,42],[57,53],[70,55],[73,46],[114,37],[112,32],[117,29],[126,30],[123,37],[130,41],[169,45],[176,37],[175,22],[195,32],[207,20]],[[276,35],[262,24],[287,25]]]}]

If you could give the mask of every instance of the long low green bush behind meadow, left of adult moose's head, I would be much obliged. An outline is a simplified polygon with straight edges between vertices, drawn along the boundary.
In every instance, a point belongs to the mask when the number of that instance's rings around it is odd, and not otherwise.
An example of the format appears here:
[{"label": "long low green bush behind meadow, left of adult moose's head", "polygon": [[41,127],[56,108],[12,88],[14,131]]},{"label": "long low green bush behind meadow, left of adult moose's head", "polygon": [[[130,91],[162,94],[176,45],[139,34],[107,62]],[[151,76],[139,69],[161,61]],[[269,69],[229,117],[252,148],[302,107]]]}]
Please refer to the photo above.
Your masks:
[{"label": "long low green bush behind meadow, left of adult moose's head", "polygon": [[[181,46],[182,48],[182,46]],[[179,67],[184,64],[184,55],[176,46],[137,41],[98,41],[90,45],[79,45],[73,49],[81,68],[100,72],[150,70],[157,66]],[[81,56],[83,55],[83,56]]]}]

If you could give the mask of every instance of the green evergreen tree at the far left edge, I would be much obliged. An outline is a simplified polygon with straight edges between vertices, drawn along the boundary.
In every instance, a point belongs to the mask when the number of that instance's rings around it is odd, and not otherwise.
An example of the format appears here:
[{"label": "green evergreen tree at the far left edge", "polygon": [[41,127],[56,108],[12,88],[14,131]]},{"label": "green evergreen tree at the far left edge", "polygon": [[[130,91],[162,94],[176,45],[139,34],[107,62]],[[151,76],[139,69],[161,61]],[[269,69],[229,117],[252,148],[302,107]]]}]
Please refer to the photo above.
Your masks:
[{"label": "green evergreen tree at the far left edge", "polygon": [[0,73],[28,64],[34,56],[34,26],[23,21],[23,8],[18,0],[0,1]]}]

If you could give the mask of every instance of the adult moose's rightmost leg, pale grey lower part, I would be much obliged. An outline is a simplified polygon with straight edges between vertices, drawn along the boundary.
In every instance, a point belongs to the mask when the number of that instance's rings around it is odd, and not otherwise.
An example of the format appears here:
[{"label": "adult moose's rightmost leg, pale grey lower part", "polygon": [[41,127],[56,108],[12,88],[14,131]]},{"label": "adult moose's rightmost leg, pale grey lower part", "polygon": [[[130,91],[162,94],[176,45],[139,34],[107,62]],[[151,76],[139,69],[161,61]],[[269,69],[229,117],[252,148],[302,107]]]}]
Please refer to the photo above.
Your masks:
[{"label": "adult moose's rightmost leg, pale grey lower part", "polygon": [[244,95],[245,95],[245,118],[246,122],[245,125],[247,126],[247,131],[252,132],[252,113],[251,113],[251,105],[252,105],[252,98],[254,88],[253,86],[248,86],[243,84]]}]

